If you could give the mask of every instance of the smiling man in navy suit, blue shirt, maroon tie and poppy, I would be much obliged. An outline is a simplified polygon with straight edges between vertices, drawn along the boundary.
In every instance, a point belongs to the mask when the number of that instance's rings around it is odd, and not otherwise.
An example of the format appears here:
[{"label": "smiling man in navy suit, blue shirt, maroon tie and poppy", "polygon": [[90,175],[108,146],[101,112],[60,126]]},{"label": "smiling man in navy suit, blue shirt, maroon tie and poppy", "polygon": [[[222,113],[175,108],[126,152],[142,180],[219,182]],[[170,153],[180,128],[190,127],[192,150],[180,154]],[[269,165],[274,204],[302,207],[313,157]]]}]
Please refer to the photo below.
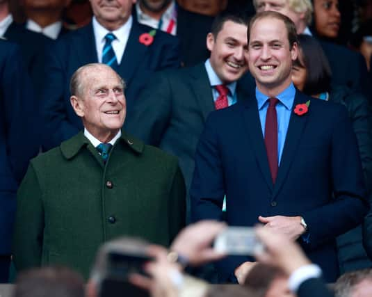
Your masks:
[{"label": "smiling man in navy suit, blue shirt, maroon tie and poppy", "polygon": [[[250,99],[209,116],[195,154],[193,220],[263,223],[298,241],[327,282],[339,275],[335,237],[368,209],[357,143],[344,106],[300,93],[291,81],[296,27],[277,12],[248,26]],[[243,281],[250,257],[216,265],[220,282]]]}]

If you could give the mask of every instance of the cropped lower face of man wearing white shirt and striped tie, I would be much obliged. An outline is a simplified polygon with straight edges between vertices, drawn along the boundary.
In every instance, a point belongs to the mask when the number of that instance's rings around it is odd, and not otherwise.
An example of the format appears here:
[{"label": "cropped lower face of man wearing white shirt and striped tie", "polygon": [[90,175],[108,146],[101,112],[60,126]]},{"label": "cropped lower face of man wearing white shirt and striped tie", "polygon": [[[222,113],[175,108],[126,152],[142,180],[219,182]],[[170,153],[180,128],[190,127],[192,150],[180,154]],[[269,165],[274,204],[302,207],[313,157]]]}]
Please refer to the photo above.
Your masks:
[{"label": "cropped lower face of man wearing white shirt and striped tie", "polygon": [[136,0],[90,0],[99,24],[113,31],[127,22]]}]

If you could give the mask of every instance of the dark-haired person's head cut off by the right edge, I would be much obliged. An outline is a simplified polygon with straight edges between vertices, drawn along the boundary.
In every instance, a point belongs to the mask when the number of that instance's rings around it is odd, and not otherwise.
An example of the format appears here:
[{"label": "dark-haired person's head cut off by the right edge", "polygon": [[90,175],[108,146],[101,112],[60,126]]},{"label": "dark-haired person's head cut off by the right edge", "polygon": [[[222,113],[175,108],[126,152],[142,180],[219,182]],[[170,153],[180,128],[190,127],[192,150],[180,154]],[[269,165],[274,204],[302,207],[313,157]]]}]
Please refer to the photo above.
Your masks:
[{"label": "dark-haired person's head cut off by the right edge", "polygon": [[372,75],[371,56],[372,56],[372,19],[359,26],[359,29],[353,34],[350,44],[357,49],[366,60],[366,66]]}]

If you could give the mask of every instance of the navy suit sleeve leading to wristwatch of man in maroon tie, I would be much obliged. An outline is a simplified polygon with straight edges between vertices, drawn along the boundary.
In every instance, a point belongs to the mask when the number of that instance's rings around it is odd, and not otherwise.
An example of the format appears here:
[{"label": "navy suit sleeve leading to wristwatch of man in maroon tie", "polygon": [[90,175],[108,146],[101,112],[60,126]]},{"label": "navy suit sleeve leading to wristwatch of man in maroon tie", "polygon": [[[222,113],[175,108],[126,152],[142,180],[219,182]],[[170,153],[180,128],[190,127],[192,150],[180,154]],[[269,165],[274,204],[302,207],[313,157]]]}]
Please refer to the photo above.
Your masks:
[{"label": "navy suit sleeve leading to wristwatch of man in maroon tie", "polygon": [[356,227],[362,223],[368,210],[355,134],[346,109],[337,107],[337,113],[330,114],[334,117],[330,152],[334,198],[330,203],[303,214],[309,227],[310,247],[330,241]]}]

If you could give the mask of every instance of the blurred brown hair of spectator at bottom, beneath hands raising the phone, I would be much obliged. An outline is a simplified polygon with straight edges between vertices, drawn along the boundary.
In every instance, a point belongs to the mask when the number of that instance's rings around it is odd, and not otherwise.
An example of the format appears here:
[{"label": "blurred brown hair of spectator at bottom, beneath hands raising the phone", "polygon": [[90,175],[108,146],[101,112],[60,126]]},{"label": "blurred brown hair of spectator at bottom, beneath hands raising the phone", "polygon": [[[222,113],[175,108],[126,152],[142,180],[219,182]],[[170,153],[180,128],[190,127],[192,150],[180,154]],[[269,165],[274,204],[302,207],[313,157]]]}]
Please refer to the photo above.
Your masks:
[{"label": "blurred brown hair of spectator at bottom, beneath hands raising the phone", "polygon": [[245,277],[244,285],[265,296],[273,280],[280,277],[287,278],[288,275],[276,266],[257,263]]}]

